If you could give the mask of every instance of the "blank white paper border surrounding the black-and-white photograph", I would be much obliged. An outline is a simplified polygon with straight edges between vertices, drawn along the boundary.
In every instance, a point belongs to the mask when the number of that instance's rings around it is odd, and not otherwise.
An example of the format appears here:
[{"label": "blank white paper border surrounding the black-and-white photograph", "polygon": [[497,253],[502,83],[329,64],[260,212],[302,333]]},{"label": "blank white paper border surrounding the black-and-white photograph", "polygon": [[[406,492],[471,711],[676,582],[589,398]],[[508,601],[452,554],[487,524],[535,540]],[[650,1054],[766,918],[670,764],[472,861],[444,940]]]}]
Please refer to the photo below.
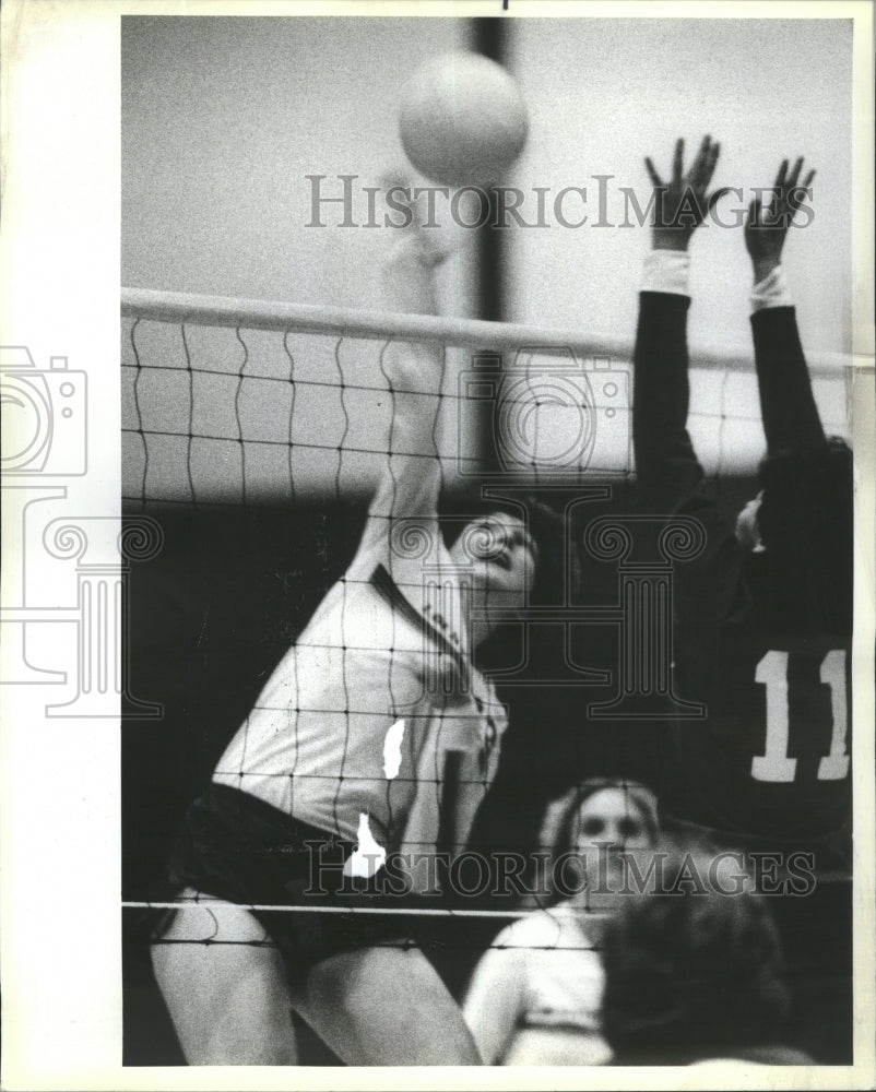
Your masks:
[{"label": "blank white paper border surrounding the black-and-white photograph", "polygon": [[[305,16],[386,15],[459,19],[697,17],[852,19],[854,21],[852,216],[853,388],[855,456],[854,719],[872,725],[874,713],[874,37],[873,4],[837,2],[556,3],[510,0],[448,3],[295,3],[276,0],[8,0],[0,14],[2,46],[2,199],[0,224],[0,345],[25,347],[36,370],[85,373],[92,419],[87,473],[56,474],[43,515],[58,521],[56,556],[80,566],[116,565],[118,558],[120,454],[119,336],[119,80],[120,20],[126,15]],[[83,271],[83,256],[87,256]],[[62,365],[62,359],[67,365]],[[57,363],[56,363],[57,361]],[[74,384],[75,385],[75,384]],[[83,385],[85,385],[83,383]],[[99,392],[99,402],[98,402]],[[100,406],[99,416],[97,406]],[[72,441],[71,441],[72,442]],[[74,465],[79,465],[74,461]],[[47,472],[48,474],[48,472]],[[32,563],[26,503],[4,483],[3,603],[15,602],[10,569],[48,581],[50,602],[73,601],[75,566],[59,578]],[[28,502],[29,502],[28,498]],[[84,544],[61,534],[69,521],[88,521]],[[146,531],[135,548],[155,549]],[[60,537],[59,537],[60,536]],[[116,550],[116,553],[114,553]],[[86,556],[87,555],[87,556]],[[110,560],[107,560],[109,558]],[[44,567],[45,568],[45,567]],[[33,575],[32,575],[33,573]],[[46,644],[59,669],[70,670],[75,649],[63,610],[46,613]],[[55,612],[52,615],[51,612]],[[11,617],[11,616],[10,616]],[[69,619],[67,619],[69,620]],[[42,640],[42,639],[40,639]],[[121,656],[120,645],[117,655]],[[12,656],[3,650],[4,663]],[[52,656],[40,658],[50,660]],[[312,1069],[260,1067],[186,1069],[121,1066],[120,733],[116,709],[90,708],[46,715],[46,696],[35,685],[0,689],[4,728],[2,770],[2,938],[4,987],[2,1087],[8,1089],[340,1089],[422,1088],[577,1089],[736,1088],[738,1070],[710,1066],[706,1083],[696,1068],[580,1069]],[[874,982],[876,981],[876,840],[874,839],[873,732],[853,740],[855,1058],[854,1066],[794,1067],[769,1072],[769,1088],[866,1088],[876,1081]],[[34,785],[38,791],[35,792]],[[100,860],[95,869],[94,863]],[[646,1079],[647,1077],[647,1079]],[[747,1075],[746,1087],[765,1087]]]}]

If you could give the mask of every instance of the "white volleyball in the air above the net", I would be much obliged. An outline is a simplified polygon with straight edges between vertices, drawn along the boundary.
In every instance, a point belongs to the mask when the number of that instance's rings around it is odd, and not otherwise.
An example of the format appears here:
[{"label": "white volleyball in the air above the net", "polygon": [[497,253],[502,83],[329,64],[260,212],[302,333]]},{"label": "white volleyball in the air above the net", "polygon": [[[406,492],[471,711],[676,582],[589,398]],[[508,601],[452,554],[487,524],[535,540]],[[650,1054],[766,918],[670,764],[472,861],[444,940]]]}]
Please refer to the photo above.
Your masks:
[{"label": "white volleyball in the air above the net", "polygon": [[480,54],[436,57],[402,91],[402,146],[434,182],[497,181],[520,155],[528,129],[526,105],[513,78]]}]

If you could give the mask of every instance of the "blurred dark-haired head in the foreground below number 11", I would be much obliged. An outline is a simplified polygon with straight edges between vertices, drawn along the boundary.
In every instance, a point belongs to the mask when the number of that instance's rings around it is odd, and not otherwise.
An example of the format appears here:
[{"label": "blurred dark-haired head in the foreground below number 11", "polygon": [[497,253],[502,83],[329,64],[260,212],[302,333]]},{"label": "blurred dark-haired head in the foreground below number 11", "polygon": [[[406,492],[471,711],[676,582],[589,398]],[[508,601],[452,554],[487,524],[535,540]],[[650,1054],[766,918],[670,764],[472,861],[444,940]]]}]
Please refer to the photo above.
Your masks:
[{"label": "blurred dark-haired head in the foreground below number 11", "polygon": [[779,1041],[788,1012],[770,912],[750,891],[684,881],[711,858],[671,852],[662,882],[622,900],[603,934],[603,1034],[618,1064],[685,1065]]}]

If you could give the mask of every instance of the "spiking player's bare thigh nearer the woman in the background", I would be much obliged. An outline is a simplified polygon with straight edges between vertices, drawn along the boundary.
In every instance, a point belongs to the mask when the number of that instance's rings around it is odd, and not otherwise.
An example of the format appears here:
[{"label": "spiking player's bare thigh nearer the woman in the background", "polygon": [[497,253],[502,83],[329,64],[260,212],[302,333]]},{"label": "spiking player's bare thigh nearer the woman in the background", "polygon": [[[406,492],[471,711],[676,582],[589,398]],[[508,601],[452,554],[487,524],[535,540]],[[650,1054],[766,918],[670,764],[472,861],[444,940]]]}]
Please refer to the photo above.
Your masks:
[{"label": "spiking player's bare thigh nearer the woman in the background", "polygon": [[351,1066],[478,1066],[462,1012],[416,948],[332,956],[307,978],[296,1008]]}]

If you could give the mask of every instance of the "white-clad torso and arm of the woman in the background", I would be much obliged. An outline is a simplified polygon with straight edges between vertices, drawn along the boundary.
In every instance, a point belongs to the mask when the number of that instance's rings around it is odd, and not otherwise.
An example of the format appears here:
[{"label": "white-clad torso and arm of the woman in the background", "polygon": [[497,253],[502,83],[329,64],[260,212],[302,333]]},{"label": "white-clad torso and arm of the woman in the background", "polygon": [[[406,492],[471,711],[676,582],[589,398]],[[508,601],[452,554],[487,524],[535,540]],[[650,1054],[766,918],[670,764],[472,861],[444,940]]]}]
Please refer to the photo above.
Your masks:
[{"label": "white-clad torso and arm of the woman in the background", "polygon": [[571,902],[496,937],[475,968],[464,1013],[485,1065],[604,1065],[597,923]]}]

